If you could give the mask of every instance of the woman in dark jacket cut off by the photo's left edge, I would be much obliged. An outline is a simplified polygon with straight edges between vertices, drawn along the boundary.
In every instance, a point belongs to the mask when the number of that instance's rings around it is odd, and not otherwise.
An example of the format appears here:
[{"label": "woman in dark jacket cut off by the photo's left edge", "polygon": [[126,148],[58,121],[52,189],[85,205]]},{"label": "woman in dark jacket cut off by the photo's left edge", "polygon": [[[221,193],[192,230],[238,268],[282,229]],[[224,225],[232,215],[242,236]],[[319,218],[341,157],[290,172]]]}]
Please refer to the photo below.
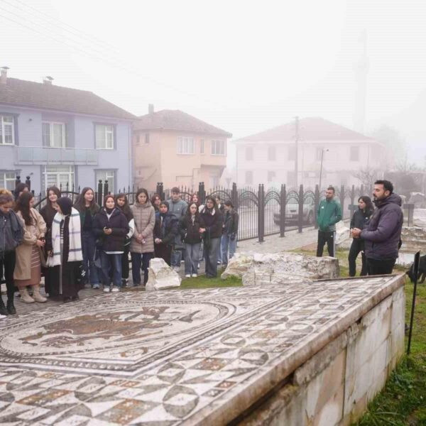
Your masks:
[{"label": "woman in dark jacket cut off by the photo's left edge", "polygon": [[0,294],[0,315],[16,314],[13,305],[13,271],[16,263],[16,247],[23,239],[23,226],[13,212],[13,196],[8,190],[0,189],[0,278],[6,280],[7,304]]}]

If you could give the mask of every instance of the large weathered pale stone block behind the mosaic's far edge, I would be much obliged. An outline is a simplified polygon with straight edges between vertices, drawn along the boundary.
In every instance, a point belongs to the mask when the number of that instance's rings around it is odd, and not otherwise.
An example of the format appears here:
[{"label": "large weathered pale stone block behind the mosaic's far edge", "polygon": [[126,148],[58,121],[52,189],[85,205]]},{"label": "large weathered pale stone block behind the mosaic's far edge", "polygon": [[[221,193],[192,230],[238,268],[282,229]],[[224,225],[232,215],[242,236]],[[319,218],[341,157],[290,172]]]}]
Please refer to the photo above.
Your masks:
[{"label": "large weathered pale stone block behind the mosaic's far edge", "polygon": [[299,253],[240,254],[231,258],[222,279],[243,278],[244,285],[310,283],[339,276],[337,258]]}]

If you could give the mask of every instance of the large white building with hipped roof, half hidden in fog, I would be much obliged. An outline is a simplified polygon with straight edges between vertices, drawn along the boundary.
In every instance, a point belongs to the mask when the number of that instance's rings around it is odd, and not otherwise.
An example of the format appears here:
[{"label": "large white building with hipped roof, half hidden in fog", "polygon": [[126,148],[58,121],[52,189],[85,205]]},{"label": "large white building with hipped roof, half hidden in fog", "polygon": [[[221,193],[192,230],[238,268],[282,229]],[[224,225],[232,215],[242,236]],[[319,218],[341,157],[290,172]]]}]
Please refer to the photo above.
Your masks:
[{"label": "large white building with hipped roof, half hidden in fog", "polygon": [[[321,118],[300,119],[234,141],[238,186],[361,185],[359,170],[386,170],[383,143]],[[297,133],[297,181],[295,176]],[[322,159],[322,172],[321,172]]]}]

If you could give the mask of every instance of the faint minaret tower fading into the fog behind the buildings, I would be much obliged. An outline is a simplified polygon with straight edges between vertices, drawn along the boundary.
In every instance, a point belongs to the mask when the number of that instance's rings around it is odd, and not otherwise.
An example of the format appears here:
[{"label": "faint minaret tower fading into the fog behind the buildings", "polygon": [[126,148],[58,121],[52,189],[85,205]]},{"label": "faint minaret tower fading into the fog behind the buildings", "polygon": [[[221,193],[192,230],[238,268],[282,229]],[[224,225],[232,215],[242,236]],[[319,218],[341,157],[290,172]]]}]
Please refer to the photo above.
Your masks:
[{"label": "faint minaret tower fading into the fog behind the buildings", "polygon": [[355,93],[353,125],[356,131],[364,133],[366,125],[366,97],[368,74],[367,31],[365,29],[359,37],[359,43],[361,43],[362,53],[359,57],[359,60],[354,64]]}]

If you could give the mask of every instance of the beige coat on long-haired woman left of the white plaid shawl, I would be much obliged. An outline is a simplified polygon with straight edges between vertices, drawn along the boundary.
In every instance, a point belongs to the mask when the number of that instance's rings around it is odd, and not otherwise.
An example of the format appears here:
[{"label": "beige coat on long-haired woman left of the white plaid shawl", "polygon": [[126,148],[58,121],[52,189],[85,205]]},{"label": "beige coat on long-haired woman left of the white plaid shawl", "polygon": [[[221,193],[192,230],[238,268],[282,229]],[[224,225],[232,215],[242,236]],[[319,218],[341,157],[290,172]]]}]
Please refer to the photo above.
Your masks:
[{"label": "beige coat on long-haired woman left of the white plaid shawl", "polygon": [[46,223],[41,214],[36,209],[30,209],[30,213],[35,224],[27,226],[23,222],[21,212],[16,212],[23,223],[23,242],[16,247],[16,266],[13,273],[15,280],[31,279],[31,251],[35,242],[46,233]]}]

